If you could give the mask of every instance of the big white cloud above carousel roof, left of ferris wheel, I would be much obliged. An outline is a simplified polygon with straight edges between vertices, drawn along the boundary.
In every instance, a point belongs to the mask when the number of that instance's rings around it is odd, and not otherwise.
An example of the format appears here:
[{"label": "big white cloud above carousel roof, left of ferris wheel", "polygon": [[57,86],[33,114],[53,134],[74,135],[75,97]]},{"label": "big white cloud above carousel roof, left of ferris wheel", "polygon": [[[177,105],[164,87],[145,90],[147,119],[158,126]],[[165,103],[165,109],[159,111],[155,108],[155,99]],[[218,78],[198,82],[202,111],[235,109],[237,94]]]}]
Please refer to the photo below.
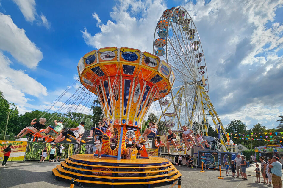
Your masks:
[{"label": "big white cloud above carousel roof, left of ferris wheel", "polygon": [[[112,20],[101,23],[98,15],[93,18],[98,21],[100,32],[94,36],[84,28],[83,38],[87,45],[101,47],[132,47],[141,51],[152,51],[151,42],[157,21],[162,12],[167,9],[164,2],[159,1],[119,1],[110,12]],[[142,14],[138,17],[137,14]],[[145,42],[146,41],[146,42]]]}]

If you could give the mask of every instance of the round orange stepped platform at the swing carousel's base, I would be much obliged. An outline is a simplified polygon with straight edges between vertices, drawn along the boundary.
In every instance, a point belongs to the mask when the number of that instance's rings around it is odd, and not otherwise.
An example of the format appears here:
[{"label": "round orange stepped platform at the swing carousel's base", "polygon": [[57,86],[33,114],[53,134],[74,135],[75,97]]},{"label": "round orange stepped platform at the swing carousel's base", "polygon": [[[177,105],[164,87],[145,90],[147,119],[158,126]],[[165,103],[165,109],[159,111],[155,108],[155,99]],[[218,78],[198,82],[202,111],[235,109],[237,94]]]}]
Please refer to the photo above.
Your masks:
[{"label": "round orange stepped platform at the swing carousel's base", "polygon": [[94,158],[93,154],[72,155],[53,170],[55,179],[72,177],[80,183],[115,185],[151,184],[173,182],[181,173],[167,159]]}]

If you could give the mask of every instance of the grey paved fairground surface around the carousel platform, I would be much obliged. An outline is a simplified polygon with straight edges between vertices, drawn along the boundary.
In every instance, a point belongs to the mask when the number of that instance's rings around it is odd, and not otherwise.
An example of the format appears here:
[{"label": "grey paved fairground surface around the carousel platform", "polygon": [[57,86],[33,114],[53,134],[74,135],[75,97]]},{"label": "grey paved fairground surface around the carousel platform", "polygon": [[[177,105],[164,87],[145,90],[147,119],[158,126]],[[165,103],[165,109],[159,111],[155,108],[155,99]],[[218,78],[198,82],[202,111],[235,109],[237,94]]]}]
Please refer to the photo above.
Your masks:
[{"label": "grey paved fairground surface around the carousel platform", "polygon": [[[0,187],[70,187],[70,180],[54,180],[51,170],[59,165],[59,162],[48,161],[45,163],[38,162],[7,162],[7,166],[0,167]],[[181,187],[268,187],[256,181],[255,167],[247,168],[248,180],[243,181],[241,178],[232,178],[225,176],[225,171],[221,172],[224,179],[218,179],[219,171],[205,170],[200,172],[200,168],[187,168],[185,165],[176,167],[182,173]],[[230,172],[230,176],[231,176]],[[263,180],[261,178],[261,180]],[[83,187],[110,187],[109,185],[99,184],[82,184]],[[169,188],[172,184],[160,183],[152,184],[151,187]],[[78,186],[74,186],[78,187]],[[117,188],[132,188],[132,185],[115,186]],[[135,188],[146,187],[144,185],[135,185]],[[172,188],[178,187],[177,183]]]}]

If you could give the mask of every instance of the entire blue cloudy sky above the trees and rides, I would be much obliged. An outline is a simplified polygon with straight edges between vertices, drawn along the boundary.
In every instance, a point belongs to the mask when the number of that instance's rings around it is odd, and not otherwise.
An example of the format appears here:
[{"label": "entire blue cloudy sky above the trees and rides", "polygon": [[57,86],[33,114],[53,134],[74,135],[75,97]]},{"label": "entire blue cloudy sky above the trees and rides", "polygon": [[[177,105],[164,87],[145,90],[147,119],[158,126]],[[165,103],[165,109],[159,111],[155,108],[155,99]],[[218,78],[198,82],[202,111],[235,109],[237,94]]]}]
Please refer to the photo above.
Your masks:
[{"label": "entire blue cloudy sky above the trees and rides", "polygon": [[[204,47],[224,125],[278,125],[283,114],[283,1],[0,1],[0,89],[20,111],[44,109],[101,47],[151,52],[162,12],[182,5]],[[145,42],[149,41],[149,42]]]}]

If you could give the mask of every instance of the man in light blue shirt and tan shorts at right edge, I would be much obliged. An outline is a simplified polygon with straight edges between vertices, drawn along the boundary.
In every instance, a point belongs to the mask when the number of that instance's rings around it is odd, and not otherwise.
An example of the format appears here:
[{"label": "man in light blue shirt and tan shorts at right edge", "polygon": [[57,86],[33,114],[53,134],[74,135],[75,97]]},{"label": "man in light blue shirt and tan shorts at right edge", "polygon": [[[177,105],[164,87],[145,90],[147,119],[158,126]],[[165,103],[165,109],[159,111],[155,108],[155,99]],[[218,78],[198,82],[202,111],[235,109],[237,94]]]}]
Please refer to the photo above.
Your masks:
[{"label": "man in light blue shirt and tan shorts at right edge", "polygon": [[278,161],[278,157],[272,158],[272,163],[269,165],[269,168],[271,168],[272,171],[272,184],[274,188],[281,188],[282,187],[282,164]]}]

